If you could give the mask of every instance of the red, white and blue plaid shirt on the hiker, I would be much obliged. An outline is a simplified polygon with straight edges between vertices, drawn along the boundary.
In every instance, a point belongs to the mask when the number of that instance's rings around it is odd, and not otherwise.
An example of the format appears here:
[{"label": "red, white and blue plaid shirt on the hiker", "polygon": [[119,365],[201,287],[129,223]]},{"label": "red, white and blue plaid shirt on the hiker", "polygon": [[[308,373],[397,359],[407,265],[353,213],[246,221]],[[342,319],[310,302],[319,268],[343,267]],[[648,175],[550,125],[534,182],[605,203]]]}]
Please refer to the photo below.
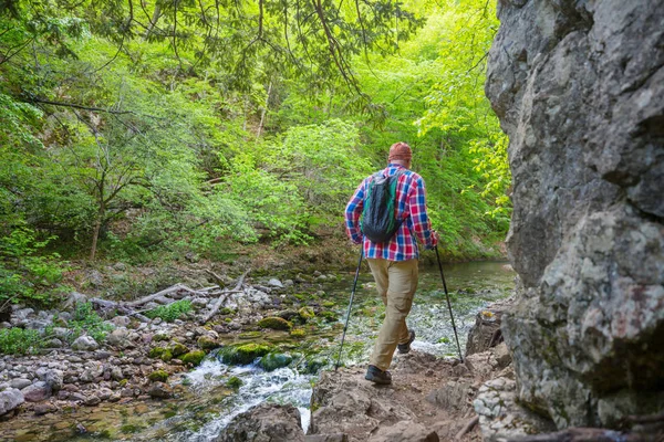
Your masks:
[{"label": "red, white and blue plaid shirt on the hiker", "polygon": [[[407,261],[419,257],[415,235],[425,245],[433,249],[437,241],[432,234],[432,221],[426,214],[426,190],[424,180],[417,173],[401,165],[388,165],[384,176],[392,176],[402,169],[396,186],[396,218],[404,219],[394,236],[385,243],[374,243],[364,238],[364,256],[382,257],[390,261]],[[346,233],[355,244],[362,242],[360,217],[364,208],[364,197],[373,176],[365,178],[349,201],[345,210]]]}]

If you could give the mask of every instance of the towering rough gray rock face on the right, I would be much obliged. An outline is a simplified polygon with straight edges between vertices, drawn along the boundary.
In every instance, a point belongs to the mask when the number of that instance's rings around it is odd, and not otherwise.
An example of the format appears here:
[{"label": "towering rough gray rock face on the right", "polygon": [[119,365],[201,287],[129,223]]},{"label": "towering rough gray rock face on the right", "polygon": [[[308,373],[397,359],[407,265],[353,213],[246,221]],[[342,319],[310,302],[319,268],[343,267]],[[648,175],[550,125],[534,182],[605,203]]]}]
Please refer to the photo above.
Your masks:
[{"label": "towering rough gray rock face on the right", "polygon": [[486,93],[510,137],[516,391],[558,428],[661,411],[664,9],[498,4]]}]

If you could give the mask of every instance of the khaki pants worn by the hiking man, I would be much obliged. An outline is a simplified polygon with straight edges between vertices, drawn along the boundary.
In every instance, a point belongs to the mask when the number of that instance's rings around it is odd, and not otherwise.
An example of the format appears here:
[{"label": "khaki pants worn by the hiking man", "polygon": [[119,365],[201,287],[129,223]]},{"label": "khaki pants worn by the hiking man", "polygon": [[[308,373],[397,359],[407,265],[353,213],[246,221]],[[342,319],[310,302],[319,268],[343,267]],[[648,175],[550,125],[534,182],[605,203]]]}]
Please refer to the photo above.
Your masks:
[{"label": "khaki pants worn by the hiking man", "polygon": [[398,344],[409,339],[406,316],[417,290],[417,260],[367,259],[378,294],[385,304],[385,319],[371,354],[370,364],[385,371]]}]

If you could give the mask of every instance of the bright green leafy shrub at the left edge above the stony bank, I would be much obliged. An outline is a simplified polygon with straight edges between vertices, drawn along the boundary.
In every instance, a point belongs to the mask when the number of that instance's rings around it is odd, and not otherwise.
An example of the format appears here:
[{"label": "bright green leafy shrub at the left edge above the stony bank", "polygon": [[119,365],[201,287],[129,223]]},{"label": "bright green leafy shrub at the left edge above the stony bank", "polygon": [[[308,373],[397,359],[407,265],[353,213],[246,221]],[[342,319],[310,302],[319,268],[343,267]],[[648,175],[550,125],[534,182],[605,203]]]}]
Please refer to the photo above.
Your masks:
[{"label": "bright green leafy shrub at the left edge above the stony bank", "polygon": [[39,254],[52,240],[40,241],[28,228],[0,238],[0,303],[44,304],[65,290],[60,282],[66,262],[58,253]]}]

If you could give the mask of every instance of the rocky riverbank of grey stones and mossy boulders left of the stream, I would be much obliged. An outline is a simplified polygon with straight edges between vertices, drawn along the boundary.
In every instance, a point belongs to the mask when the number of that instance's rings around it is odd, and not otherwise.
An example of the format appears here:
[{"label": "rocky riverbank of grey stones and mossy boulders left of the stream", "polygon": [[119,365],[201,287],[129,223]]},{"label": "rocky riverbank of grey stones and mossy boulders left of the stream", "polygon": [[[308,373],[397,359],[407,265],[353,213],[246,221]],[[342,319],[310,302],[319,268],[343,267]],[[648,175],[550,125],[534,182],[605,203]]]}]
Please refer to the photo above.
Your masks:
[{"label": "rocky riverbank of grey stones and mossy boulders left of the stream", "polygon": [[[323,278],[335,276],[314,272],[283,282],[264,277],[232,291],[195,291],[177,285],[163,291],[166,295],[151,298],[135,315],[117,315],[118,308],[105,309],[103,302],[95,304],[95,298],[79,293],[61,309],[35,312],[14,305],[2,329],[33,330],[39,339],[25,349],[28,355],[0,358],[0,419],[106,401],[169,398],[174,394],[169,385],[215,348],[266,334],[301,338],[320,323],[336,319],[328,308],[333,303],[320,299],[322,293],[317,291],[315,282]],[[144,316],[173,311],[175,303],[188,306],[178,318]],[[116,307],[127,305],[116,303]],[[206,320],[211,313],[214,316]],[[91,325],[94,333],[86,328]],[[261,346],[253,350],[264,354],[266,348],[270,349]],[[243,350],[249,358],[256,356],[250,354],[252,349]]]}]

